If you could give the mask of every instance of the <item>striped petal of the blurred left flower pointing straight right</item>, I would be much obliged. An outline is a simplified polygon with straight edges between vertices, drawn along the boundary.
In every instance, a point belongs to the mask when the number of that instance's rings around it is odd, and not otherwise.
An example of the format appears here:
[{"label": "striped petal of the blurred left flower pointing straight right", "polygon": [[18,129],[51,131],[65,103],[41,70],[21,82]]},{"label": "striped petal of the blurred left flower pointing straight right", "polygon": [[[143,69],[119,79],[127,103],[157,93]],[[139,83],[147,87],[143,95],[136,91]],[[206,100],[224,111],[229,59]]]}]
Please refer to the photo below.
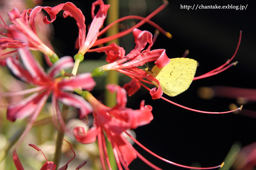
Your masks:
[{"label": "striped petal of the blurred left flower pointing straight right", "polygon": [[78,74],[73,79],[62,79],[62,81],[58,83],[59,89],[68,91],[78,87],[91,91],[95,85],[96,83],[91,77],[91,73]]}]

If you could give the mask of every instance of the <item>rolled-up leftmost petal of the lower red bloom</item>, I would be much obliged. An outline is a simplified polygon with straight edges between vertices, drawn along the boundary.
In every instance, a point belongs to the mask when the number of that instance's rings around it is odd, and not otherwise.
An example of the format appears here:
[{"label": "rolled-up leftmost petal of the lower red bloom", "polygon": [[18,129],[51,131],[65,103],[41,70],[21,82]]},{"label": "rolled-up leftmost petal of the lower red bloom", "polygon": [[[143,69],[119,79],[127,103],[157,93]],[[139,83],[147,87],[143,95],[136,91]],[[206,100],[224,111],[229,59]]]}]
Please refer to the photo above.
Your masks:
[{"label": "rolled-up leftmost petal of the lower red bloom", "polygon": [[97,127],[93,126],[86,133],[84,127],[74,127],[73,133],[78,142],[82,144],[89,144],[96,141],[98,135]]}]

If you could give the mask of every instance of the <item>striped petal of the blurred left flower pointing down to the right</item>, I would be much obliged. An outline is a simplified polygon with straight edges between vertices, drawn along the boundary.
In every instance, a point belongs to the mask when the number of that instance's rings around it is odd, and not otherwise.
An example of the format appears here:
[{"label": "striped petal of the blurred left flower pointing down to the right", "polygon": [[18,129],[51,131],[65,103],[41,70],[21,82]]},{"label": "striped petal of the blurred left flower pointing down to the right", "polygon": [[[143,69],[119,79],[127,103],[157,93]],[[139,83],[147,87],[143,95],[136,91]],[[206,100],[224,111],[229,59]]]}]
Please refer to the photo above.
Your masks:
[{"label": "striped petal of the blurred left flower pointing down to the right", "polygon": [[93,111],[91,105],[85,101],[84,98],[76,94],[65,93],[63,91],[54,91],[56,98],[67,106],[72,106],[79,109],[79,119],[85,118],[85,116]]}]

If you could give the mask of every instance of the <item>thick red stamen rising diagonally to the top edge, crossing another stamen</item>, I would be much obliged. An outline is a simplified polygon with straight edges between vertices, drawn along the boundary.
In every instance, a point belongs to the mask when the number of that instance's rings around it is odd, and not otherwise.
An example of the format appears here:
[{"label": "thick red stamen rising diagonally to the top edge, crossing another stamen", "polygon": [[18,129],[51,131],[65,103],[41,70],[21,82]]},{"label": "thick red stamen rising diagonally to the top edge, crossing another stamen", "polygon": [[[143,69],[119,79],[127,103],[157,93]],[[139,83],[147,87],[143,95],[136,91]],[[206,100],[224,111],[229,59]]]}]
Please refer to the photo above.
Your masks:
[{"label": "thick red stamen rising diagonally to the top edge, crossing another stamen", "polygon": [[148,15],[148,17],[145,17],[145,19],[143,19],[142,21],[140,21],[139,23],[137,23],[135,26],[133,26],[132,28],[129,28],[128,30],[125,30],[123,32],[119,32],[113,36],[108,36],[106,38],[102,38],[100,40],[95,41],[95,43],[93,44],[92,47],[95,47],[99,44],[103,44],[106,43],[110,40],[114,40],[116,38],[120,38],[122,36],[125,36],[126,34],[132,32],[132,30],[134,28],[139,28],[140,26],[142,26],[146,21],[148,21],[149,19],[151,19],[152,17],[154,17],[154,15],[156,15],[157,13],[159,13],[160,11],[163,10],[163,8],[165,8],[168,5],[168,1],[165,1],[163,5],[161,5],[160,7],[158,7],[154,12],[152,12],[150,15]]}]

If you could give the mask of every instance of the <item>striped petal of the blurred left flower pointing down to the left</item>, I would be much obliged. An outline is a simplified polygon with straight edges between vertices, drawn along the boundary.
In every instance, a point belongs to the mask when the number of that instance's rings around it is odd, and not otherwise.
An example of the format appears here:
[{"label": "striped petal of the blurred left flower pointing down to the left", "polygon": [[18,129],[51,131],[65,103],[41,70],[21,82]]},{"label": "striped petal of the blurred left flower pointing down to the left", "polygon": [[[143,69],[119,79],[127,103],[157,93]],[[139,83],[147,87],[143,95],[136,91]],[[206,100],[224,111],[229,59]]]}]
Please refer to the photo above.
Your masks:
[{"label": "striped petal of the blurred left flower pointing down to the left", "polygon": [[7,119],[15,121],[17,118],[28,117],[35,112],[41,100],[48,94],[48,91],[41,94],[35,93],[17,104],[10,104],[7,108]]}]

